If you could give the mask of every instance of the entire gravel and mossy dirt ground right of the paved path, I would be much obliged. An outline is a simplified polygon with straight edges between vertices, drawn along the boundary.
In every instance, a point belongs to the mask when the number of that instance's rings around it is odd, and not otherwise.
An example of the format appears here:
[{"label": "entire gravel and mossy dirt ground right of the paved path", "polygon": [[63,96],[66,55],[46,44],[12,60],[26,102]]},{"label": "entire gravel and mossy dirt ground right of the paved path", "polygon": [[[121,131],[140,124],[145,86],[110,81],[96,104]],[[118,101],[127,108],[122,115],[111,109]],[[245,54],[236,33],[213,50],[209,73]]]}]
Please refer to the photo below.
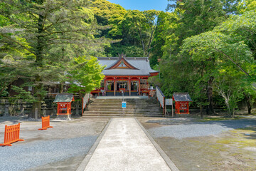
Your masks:
[{"label": "entire gravel and mossy dirt ground right of the paved path", "polygon": [[138,118],[179,170],[256,170],[256,118]]}]

